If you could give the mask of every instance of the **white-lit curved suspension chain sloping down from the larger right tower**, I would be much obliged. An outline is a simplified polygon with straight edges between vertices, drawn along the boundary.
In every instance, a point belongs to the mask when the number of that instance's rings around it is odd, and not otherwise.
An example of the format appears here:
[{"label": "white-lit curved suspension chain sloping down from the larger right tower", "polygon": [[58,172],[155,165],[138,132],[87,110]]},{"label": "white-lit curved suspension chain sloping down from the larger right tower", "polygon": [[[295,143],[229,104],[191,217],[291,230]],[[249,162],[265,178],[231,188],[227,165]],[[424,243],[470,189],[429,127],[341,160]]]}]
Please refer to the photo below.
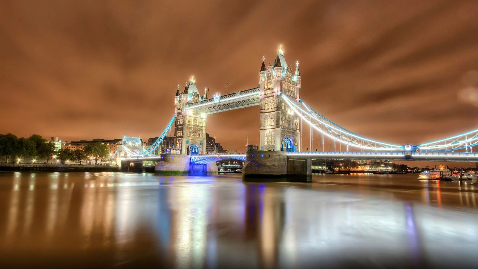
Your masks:
[{"label": "white-lit curved suspension chain sloping down from the larger right tower", "polygon": [[375,141],[348,131],[347,129],[327,120],[324,116],[315,112],[315,110],[310,108],[302,99],[299,103],[296,103],[282,93],[281,96],[283,100],[293,109],[293,111],[297,113],[302,120],[304,120],[305,123],[308,123],[311,127],[327,136],[329,139],[334,139],[334,141],[339,143],[356,146],[362,149],[403,151],[402,145],[394,145]]}]

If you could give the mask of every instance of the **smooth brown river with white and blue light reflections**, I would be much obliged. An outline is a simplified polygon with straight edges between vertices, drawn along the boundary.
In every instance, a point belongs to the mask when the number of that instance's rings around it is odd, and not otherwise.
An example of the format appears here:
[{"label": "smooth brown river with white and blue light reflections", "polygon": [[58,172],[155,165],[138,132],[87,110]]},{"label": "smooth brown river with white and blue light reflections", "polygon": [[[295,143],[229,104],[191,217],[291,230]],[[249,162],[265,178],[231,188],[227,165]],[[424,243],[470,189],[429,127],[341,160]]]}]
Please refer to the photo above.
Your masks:
[{"label": "smooth brown river with white and blue light reflections", "polygon": [[478,186],[408,175],[0,173],[2,267],[469,268]]}]

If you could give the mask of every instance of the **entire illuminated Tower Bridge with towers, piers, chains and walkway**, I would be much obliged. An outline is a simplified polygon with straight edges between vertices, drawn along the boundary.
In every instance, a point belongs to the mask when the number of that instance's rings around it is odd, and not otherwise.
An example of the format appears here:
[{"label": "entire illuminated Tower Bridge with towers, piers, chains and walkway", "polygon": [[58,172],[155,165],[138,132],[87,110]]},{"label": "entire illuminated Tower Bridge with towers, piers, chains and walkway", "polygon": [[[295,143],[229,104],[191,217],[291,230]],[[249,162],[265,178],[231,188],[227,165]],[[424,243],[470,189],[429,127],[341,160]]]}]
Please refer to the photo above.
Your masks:
[{"label": "entire illuminated Tower Bridge with towers, piers, chains and walkway", "polygon": [[[214,161],[230,157],[246,162],[245,179],[299,181],[310,177],[311,158],[478,161],[478,155],[472,152],[478,144],[478,130],[419,145],[395,145],[369,139],[329,121],[308,106],[300,98],[301,80],[299,62],[295,62],[293,71],[285,60],[282,46],[273,64],[266,66],[262,58],[259,87],[224,96],[219,93],[208,96],[205,89],[201,95],[192,77],[184,90],[178,85],[174,115],[152,146],[132,150],[124,143],[115,157],[119,164],[123,161],[133,166],[143,160],[157,160],[155,170],[163,174],[187,174],[200,169],[214,174],[217,172]],[[207,155],[207,115],[251,106],[260,106],[259,151]],[[310,128],[311,142],[319,141],[317,152],[301,148],[303,128]],[[156,153],[168,133],[174,137],[173,149],[168,154]]]}]

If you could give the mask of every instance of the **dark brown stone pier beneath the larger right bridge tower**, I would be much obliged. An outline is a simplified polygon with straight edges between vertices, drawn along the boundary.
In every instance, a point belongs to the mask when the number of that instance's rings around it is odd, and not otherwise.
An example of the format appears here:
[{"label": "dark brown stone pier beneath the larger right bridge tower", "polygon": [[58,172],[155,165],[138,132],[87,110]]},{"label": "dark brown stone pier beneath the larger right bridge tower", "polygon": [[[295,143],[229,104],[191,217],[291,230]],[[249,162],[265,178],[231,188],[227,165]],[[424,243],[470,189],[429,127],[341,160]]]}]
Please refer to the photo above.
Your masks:
[{"label": "dark brown stone pier beneath the larger right bridge tower", "polygon": [[312,160],[287,157],[284,151],[248,151],[242,169],[244,181],[307,182],[312,180]]}]

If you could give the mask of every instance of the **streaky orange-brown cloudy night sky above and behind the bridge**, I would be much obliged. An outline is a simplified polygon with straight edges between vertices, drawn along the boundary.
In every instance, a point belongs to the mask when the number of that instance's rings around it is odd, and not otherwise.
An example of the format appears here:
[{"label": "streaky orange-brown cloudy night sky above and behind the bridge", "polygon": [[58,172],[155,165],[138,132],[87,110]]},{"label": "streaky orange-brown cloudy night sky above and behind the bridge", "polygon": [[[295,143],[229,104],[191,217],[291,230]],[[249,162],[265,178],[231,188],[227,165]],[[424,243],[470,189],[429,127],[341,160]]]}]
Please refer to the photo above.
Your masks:
[{"label": "streaky orange-brown cloudy night sky above and behind the bridge", "polygon": [[[418,144],[478,128],[477,33],[474,0],[1,1],[0,133],[155,136],[177,84],[256,87],[282,44],[319,113]],[[258,113],[211,115],[208,132],[241,151]]]}]

